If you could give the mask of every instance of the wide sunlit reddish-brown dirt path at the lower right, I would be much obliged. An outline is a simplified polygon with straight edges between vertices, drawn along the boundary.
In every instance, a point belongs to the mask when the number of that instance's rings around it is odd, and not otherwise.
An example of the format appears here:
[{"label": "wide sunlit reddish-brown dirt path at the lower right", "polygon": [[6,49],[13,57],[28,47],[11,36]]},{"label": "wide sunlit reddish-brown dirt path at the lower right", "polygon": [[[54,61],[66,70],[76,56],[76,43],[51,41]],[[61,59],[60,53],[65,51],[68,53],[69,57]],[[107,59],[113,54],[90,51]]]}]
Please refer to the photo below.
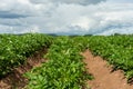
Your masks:
[{"label": "wide sunlit reddish-brown dirt path at the lower right", "polygon": [[133,89],[133,85],[126,83],[121,70],[112,71],[111,66],[101,57],[94,57],[89,50],[83,52],[88,71],[94,76],[88,81],[91,89]]}]

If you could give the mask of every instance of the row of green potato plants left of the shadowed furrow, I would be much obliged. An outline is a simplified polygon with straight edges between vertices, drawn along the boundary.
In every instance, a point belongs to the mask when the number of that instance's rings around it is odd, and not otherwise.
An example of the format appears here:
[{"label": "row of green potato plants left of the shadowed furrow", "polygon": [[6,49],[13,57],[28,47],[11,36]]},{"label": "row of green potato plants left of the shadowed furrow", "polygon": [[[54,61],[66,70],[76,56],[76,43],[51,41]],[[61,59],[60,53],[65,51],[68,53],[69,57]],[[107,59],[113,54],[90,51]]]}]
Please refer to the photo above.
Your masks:
[{"label": "row of green potato plants left of the shadowed furrow", "polygon": [[0,78],[42,47],[49,47],[51,39],[40,33],[0,34]]}]

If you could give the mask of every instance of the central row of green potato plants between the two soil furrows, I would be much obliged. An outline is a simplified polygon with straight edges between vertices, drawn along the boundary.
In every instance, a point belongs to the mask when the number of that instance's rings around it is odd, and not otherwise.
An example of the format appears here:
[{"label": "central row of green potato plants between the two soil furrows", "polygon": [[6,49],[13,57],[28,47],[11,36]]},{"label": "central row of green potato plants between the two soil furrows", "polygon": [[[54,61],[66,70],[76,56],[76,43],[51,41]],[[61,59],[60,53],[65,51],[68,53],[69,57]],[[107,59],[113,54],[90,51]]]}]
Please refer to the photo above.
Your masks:
[{"label": "central row of green potato plants between the two soil furrows", "polygon": [[83,89],[85,80],[93,77],[86,72],[82,46],[69,37],[58,37],[51,44],[47,62],[27,72],[27,89]]}]

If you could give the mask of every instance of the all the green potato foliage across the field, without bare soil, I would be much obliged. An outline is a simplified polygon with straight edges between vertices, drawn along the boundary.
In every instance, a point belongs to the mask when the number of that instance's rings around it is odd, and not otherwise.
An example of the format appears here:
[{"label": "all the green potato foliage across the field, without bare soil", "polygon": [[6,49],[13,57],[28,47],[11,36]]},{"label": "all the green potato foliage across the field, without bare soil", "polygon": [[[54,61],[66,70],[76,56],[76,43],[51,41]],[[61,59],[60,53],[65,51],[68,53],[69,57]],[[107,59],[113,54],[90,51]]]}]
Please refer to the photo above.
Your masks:
[{"label": "all the green potato foliage across the field, without bare soil", "polygon": [[0,34],[0,77],[24,62],[34,51],[50,47],[49,59],[41,67],[25,73],[28,89],[82,89],[85,80],[92,79],[86,73],[83,57],[80,55],[90,49],[122,69],[126,78],[133,78],[133,36],[79,36],[50,37],[44,34]]}]

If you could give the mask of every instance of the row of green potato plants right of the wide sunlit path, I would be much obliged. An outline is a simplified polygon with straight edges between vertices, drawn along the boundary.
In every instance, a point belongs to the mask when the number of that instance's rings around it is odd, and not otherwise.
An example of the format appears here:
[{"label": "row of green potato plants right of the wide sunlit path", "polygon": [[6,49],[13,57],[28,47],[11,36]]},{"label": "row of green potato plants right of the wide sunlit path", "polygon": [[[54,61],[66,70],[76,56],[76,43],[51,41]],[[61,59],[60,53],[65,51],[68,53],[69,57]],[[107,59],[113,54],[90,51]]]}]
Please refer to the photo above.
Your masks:
[{"label": "row of green potato plants right of the wide sunlit path", "polygon": [[124,71],[127,81],[133,79],[133,34],[75,37],[84,49],[101,56],[113,66],[114,70]]}]

